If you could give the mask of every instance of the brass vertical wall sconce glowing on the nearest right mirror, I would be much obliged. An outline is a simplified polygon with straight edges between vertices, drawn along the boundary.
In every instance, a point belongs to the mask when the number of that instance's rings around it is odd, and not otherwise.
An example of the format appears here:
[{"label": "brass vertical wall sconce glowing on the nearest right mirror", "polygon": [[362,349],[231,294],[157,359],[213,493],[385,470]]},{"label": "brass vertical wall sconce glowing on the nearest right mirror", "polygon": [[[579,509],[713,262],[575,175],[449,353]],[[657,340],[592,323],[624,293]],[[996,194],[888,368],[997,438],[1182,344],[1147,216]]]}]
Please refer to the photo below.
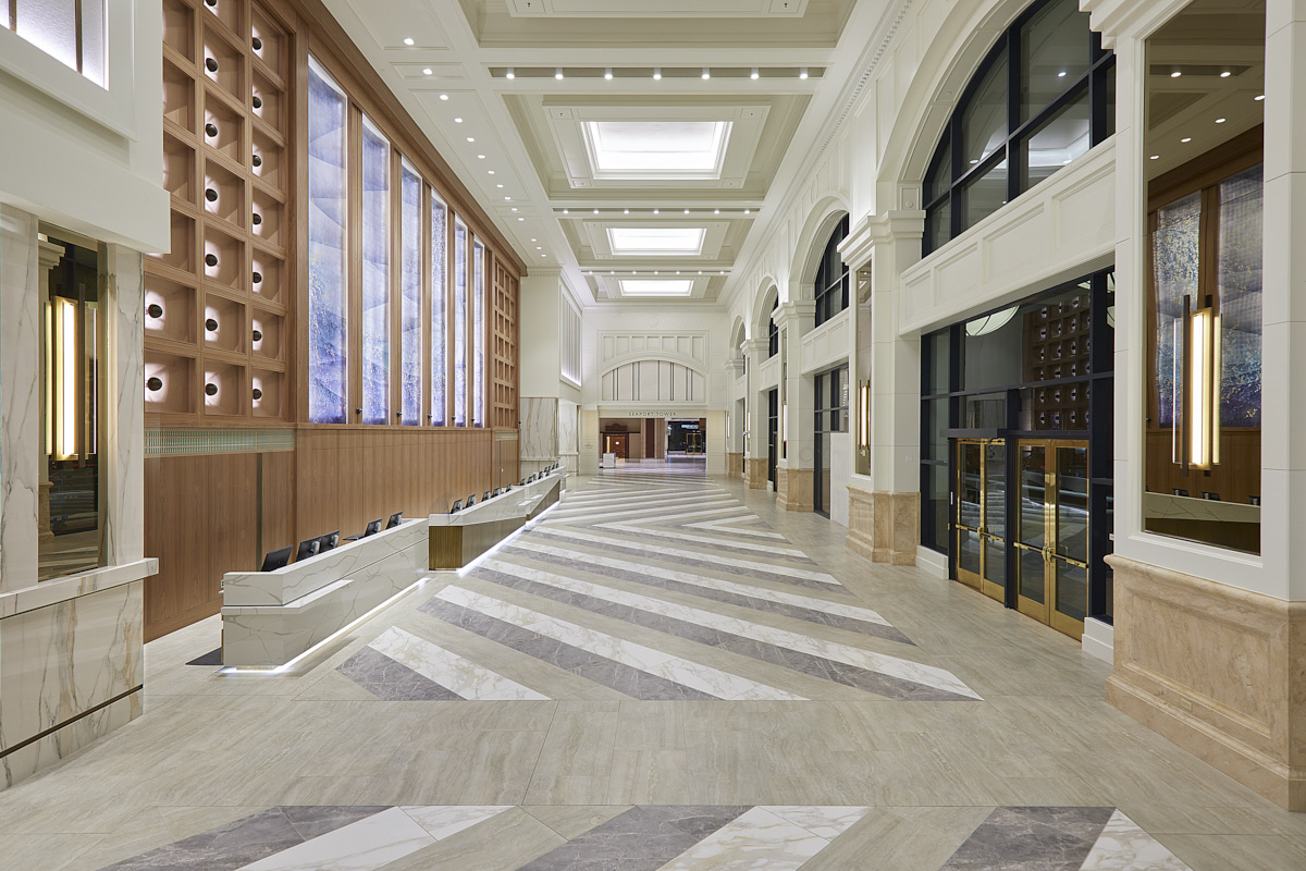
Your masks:
[{"label": "brass vertical wall sconce glowing on the nearest right mirror", "polygon": [[1182,409],[1175,415],[1174,448],[1185,474],[1220,464],[1220,313],[1209,296],[1205,302],[1194,311],[1191,298],[1185,296],[1183,320],[1175,324],[1182,330],[1175,345],[1183,350],[1175,368],[1183,371],[1182,381],[1174,380],[1174,405]]}]

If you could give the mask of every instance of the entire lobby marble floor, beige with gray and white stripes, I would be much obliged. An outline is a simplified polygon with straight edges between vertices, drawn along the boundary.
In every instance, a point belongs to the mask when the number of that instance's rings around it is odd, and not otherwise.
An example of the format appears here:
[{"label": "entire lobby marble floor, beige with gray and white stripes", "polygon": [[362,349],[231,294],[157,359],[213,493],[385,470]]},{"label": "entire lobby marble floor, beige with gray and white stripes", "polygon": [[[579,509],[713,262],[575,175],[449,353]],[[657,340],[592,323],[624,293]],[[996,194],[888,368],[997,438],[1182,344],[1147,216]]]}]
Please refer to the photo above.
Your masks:
[{"label": "entire lobby marble floor, beige with gray and white stripes", "polygon": [[545,518],[282,674],[146,646],[146,712],[0,793],[0,871],[1306,868],[1109,667],[699,464]]}]

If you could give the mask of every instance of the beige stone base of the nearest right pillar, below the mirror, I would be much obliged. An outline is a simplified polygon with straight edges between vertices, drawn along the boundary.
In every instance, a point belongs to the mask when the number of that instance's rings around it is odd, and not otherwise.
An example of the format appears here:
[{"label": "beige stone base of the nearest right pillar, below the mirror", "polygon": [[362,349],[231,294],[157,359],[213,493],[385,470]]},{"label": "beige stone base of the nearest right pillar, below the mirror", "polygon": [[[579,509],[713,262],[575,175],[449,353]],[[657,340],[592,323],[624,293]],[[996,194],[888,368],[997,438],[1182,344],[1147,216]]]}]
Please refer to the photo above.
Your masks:
[{"label": "beige stone base of the nearest right pillar, below the mirror", "polygon": [[1290,811],[1306,811],[1306,602],[1107,556],[1106,700]]}]

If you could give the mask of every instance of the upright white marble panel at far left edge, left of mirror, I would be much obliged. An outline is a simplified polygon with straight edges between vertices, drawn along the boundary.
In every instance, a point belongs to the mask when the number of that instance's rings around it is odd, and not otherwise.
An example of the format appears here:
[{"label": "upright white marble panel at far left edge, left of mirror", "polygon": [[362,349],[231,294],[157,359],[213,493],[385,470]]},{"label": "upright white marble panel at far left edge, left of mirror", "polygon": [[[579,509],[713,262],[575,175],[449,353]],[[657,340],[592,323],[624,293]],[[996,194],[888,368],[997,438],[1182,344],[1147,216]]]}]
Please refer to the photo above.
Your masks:
[{"label": "upright white marble panel at far left edge, left of mirror", "polygon": [[0,212],[0,592],[37,582],[40,492],[37,217]]}]

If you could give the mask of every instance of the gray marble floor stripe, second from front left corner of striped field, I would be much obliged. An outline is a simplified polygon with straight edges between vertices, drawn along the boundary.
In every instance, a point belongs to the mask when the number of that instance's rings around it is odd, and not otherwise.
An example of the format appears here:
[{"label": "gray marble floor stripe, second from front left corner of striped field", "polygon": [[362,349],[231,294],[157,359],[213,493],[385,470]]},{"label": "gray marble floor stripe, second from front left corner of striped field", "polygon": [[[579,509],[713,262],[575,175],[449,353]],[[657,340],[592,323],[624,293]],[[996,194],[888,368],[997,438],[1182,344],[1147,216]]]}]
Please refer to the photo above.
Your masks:
[{"label": "gray marble floor stripe, second from front left corner of striped field", "polygon": [[641,700],[707,700],[716,699],[692,687],[660,678],[639,669],[614,662],[598,654],[572,646],[563,641],[545,637],[530,629],[505,623],[487,614],[444,599],[432,598],[423,605],[422,612],[439,618],[445,623],[498,641],[518,653],[542,659],[552,666],[571,671],[575,675]]}]

